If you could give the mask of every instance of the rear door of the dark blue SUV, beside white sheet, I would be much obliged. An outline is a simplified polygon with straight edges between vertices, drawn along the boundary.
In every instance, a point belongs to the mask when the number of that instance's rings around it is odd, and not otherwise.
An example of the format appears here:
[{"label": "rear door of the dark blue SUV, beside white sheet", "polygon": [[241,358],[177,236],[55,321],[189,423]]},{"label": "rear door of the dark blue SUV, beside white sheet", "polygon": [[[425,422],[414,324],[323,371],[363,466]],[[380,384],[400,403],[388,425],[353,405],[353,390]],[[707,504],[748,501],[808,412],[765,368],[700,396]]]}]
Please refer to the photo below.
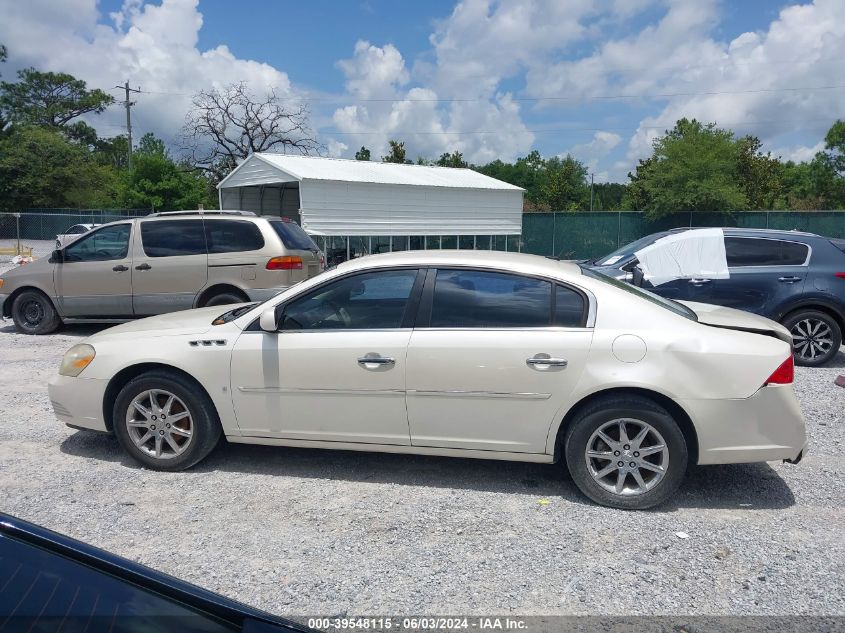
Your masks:
[{"label": "rear door of the dark blue SUV, beside white sheet", "polygon": [[809,246],[768,237],[725,236],[729,279],[691,279],[689,300],[768,316],[804,291]]}]

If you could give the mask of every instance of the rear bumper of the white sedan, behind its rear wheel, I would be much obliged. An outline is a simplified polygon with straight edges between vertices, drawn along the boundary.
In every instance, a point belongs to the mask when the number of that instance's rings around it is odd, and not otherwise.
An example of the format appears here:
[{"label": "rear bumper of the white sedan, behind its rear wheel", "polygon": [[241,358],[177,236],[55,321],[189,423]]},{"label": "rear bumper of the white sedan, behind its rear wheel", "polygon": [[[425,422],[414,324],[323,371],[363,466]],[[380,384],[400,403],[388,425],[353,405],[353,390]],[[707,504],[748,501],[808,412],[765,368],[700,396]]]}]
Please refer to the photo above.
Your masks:
[{"label": "rear bumper of the white sedan, behind its rear wheel", "polygon": [[791,385],[750,398],[681,400],[698,435],[699,464],[795,461],[806,453],[804,416]]}]

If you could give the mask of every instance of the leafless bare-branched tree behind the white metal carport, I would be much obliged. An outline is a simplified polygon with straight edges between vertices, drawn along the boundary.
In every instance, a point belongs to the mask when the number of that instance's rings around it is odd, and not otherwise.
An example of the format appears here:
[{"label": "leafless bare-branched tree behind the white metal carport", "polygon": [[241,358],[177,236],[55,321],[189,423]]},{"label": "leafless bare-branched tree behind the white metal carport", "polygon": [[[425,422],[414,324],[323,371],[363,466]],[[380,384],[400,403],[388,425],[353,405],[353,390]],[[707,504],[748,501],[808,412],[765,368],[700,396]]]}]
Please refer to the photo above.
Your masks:
[{"label": "leafless bare-branched tree behind the white metal carport", "polygon": [[311,130],[306,105],[286,105],[272,89],[257,98],[243,82],[194,95],[182,139],[190,162],[218,179],[252,152],[325,150]]}]

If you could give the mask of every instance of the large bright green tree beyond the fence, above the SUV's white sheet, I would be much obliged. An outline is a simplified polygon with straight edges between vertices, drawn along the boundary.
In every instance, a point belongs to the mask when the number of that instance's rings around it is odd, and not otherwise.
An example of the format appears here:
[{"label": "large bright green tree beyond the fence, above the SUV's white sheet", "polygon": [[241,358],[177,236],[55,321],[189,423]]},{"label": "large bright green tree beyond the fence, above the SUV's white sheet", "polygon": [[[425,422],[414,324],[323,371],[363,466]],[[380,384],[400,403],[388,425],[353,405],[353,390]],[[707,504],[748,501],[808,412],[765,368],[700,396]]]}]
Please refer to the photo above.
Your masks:
[{"label": "large bright green tree beyond the fence, above the SUV's white sheet", "polygon": [[681,119],[652,146],[653,155],[629,175],[628,187],[629,201],[650,218],[748,207],[738,182],[741,147],[730,130]]}]

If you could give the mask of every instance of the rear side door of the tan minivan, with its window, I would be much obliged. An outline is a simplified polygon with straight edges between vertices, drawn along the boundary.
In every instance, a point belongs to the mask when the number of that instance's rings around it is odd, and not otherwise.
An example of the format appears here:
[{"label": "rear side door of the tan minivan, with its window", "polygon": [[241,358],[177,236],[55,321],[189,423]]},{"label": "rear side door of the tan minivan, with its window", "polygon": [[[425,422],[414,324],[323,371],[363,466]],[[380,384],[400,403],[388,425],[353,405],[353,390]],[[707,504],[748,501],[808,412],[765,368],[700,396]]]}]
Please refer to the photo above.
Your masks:
[{"label": "rear side door of the tan minivan, with its window", "polygon": [[208,279],[203,220],[150,218],[138,225],[132,258],[135,314],[192,308]]}]

